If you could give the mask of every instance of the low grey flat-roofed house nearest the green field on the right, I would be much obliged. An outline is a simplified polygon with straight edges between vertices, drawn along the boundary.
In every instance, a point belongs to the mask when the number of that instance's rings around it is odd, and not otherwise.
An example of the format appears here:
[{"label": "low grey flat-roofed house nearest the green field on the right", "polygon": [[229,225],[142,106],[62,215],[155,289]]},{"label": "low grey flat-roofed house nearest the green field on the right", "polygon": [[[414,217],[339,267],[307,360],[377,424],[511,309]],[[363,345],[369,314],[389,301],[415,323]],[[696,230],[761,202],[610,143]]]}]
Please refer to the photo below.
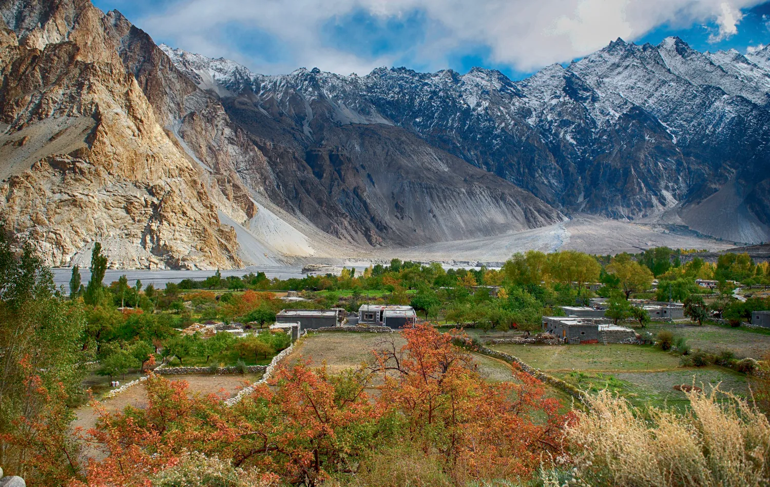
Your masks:
[{"label": "low grey flat-roofed house nearest the green field on the right", "polygon": [[636,338],[634,330],[601,318],[544,316],[543,331],[570,344],[620,343]]}]

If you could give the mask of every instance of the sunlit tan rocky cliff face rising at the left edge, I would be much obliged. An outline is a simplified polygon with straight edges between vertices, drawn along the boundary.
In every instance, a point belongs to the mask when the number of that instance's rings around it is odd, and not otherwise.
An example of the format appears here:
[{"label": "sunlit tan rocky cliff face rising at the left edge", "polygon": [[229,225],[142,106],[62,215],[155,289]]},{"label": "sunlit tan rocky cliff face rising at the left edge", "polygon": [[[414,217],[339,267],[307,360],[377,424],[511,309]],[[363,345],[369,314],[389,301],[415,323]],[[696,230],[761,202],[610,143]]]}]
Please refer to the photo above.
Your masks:
[{"label": "sunlit tan rocky cliff face rising at the left edge", "polygon": [[112,265],[239,265],[221,198],[124,68],[110,18],[89,2],[5,1],[0,12],[8,229],[52,265],[96,240]]}]

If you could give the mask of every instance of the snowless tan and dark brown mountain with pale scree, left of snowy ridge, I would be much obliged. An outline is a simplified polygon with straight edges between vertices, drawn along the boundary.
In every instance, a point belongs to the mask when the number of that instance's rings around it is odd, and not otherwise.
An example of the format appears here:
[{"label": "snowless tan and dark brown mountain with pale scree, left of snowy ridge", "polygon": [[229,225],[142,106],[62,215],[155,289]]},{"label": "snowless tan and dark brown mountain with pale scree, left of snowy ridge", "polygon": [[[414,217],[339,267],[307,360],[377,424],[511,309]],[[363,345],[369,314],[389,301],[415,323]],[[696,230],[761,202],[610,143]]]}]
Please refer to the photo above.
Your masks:
[{"label": "snowless tan and dark brown mountain with pale scree, left of snowy ridge", "polygon": [[97,240],[115,267],[211,269],[564,218],[400,128],[347,127],[336,145],[257,138],[88,0],[0,0],[0,15],[0,212],[52,265],[87,262]]}]

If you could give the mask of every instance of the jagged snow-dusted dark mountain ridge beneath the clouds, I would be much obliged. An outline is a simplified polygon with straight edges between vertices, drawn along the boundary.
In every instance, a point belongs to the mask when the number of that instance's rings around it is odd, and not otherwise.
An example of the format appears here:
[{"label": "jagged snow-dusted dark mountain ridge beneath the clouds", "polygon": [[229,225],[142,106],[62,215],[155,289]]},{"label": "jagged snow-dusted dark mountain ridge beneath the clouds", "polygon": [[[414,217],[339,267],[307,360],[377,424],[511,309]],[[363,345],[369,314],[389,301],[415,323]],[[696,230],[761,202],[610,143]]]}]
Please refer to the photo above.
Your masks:
[{"label": "jagged snow-dusted dark mountain ridge beneath the clouds", "polygon": [[162,48],[257,138],[300,149],[335,125],[395,125],[566,212],[770,237],[768,48],[744,56],[618,39],[520,82],[483,68],[266,76]]}]

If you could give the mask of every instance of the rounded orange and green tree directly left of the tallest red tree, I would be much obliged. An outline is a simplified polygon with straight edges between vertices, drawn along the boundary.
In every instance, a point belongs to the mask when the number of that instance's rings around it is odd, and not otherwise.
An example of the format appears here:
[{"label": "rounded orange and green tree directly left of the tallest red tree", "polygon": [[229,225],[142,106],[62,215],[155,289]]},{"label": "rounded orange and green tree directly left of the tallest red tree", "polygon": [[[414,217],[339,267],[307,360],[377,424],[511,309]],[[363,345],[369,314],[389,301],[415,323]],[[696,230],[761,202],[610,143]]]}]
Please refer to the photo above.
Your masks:
[{"label": "rounded orange and green tree directly left of the tallest red tree", "polygon": [[366,375],[331,375],[300,362],[278,371],[275,389],[257,389],[238,409],[249,422],[249,448],[234,464],[257,465],[286,482],[318,485],[333,473],[354,473],[387,439],[387,409],[370,401]]}]

